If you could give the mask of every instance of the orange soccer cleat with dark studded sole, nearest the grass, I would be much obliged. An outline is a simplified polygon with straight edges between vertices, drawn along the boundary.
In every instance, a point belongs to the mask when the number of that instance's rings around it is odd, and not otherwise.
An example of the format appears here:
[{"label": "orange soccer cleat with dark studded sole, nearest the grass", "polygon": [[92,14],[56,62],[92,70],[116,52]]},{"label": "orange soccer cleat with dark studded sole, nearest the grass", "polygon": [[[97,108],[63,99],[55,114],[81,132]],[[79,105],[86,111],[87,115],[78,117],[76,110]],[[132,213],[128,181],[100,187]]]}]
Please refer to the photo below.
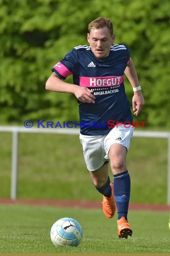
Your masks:
[{"label": "orange soccer cleat with dark studded sole, nearest the grass", "polygon": [[119,238],[127,239],[128,235],[132,236],[132,229],[125,217],[121,217],[121,219],[117,221],[117,224]]}]

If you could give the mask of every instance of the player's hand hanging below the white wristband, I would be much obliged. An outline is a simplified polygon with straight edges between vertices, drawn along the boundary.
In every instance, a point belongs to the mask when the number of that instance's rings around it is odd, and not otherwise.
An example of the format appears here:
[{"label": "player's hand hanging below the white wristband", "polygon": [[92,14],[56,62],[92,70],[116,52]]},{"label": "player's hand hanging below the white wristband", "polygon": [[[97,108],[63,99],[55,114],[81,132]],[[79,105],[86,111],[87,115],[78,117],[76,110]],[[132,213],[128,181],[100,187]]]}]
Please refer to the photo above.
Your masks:
[{"label": "player's hand hanging below the white wristband", "polygon": [[134,92],[133,98],[132,98],[132,108],[134,112],[134,115],[139,115],[142,106],[144,105],[144,97],[142,95],[141,91]]}]

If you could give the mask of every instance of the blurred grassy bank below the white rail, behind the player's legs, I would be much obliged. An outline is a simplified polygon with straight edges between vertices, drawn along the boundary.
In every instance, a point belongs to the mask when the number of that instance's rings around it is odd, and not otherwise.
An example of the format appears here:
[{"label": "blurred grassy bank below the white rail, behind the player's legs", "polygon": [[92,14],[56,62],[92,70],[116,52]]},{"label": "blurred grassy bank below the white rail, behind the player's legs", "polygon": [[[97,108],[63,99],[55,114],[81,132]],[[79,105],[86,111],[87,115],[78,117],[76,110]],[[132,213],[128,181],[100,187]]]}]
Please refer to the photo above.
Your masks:
[{"label": "blurred grassy bank below the white rail, behind the player's legs", "polygon": [[[0,132],[0,142],[0,197],[9,198],[12,134]],[[133,137],[127,168],[132,203],[167,202],[166,139]],[[78,135],[20,134],[18,198],[101,200],[86,169]]]}]

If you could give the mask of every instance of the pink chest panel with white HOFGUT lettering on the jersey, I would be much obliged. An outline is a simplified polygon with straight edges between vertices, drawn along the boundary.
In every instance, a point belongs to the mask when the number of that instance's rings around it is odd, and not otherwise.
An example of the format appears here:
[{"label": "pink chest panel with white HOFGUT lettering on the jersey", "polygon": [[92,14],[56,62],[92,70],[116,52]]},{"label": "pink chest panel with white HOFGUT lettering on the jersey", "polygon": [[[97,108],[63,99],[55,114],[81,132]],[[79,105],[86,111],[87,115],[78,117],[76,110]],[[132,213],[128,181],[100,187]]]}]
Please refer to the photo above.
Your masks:
[{"label": "pink chest panel with white HOFGUT lettering on the jersey", "polygon": [[123,75],[102,76],[102,77],[83,77],[80,76],[80,86],[84,87],[105,87],[115,86],[123,83]]}]

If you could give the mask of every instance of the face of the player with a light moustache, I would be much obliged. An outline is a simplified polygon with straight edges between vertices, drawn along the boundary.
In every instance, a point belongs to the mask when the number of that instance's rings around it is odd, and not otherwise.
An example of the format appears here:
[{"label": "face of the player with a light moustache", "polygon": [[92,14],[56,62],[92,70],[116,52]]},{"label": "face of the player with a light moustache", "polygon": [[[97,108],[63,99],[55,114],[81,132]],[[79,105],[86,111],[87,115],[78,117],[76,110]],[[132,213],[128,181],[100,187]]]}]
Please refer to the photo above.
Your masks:
[{"label": "face of the player with a light moustache", "polygon": [[115,35],[110,35],[107,27],[92,28],[90,34],[87,34],[87,40],[95,57],[104,58],[109,56],[110,45],[113,44]]}]

